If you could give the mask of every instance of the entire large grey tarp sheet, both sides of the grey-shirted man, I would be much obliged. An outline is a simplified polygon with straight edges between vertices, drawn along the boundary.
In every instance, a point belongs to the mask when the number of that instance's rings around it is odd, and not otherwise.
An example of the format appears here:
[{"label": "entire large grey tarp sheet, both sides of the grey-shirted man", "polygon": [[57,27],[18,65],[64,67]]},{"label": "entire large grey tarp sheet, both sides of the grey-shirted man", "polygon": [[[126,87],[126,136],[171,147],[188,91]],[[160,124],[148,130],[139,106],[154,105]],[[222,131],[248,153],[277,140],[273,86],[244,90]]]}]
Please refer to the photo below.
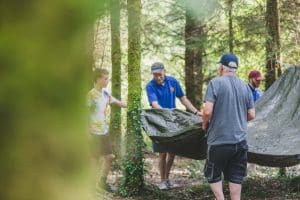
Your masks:
[{"label": "entire large grey tarp sheet, both sides of the grey-shirted man", "polygon": [[[289,68],[255,104],[256,119],[248,125],[248,160],[272,167],[300,163],[300,68]],[[154,143],[176,155],[206,158],[202,119],[178,109],[148,109],[142,125]]]}]

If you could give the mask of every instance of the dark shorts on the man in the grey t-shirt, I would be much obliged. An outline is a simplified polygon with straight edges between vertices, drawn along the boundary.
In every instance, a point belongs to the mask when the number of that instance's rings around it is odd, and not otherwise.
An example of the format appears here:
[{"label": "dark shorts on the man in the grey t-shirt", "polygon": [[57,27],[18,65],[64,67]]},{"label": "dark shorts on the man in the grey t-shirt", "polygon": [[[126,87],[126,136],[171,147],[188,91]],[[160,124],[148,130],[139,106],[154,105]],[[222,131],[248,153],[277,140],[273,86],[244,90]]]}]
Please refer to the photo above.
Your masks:
[{"label": "dark shorts on the man in the grey t-shirt", "polygon": [[248,145],[244,140],[237,144],[208,146],[204,175],[209,183],[222,180],[241,184],[247,176]]}]

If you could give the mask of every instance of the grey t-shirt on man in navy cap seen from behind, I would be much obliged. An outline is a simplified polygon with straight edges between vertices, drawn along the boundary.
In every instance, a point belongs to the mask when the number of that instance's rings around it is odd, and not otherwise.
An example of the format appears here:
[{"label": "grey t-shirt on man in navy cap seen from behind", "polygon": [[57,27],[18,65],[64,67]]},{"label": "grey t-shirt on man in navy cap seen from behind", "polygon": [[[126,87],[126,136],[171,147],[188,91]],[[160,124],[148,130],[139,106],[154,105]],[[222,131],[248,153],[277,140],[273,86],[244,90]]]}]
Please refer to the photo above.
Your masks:
[{"label": "grey t-shirt on man in navy cap seen from behind", "polygon": [[247,112],[253,108],[250,88],[236,76],[212,79],[204,101],[214,103],[208,128],[208,145],[235,144],[246,139]]}]

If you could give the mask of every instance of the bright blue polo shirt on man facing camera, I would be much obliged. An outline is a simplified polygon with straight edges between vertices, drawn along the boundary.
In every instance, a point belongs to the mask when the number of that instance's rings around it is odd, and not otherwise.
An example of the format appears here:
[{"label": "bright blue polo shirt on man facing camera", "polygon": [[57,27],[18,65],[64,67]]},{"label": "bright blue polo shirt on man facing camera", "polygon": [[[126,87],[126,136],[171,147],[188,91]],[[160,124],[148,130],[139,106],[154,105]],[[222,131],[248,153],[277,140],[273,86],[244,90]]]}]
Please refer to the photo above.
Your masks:
[{"label": "bright blue polo shirt on man facing camera", "polygon": [[153,101],[157,101],[162,108],[176,108],[176,97],[184,96],[179,82],[171,76],[165,76],[164,85],[158,85],[152,79],[146,85],[146,92],[149,104],[152,105]]}]

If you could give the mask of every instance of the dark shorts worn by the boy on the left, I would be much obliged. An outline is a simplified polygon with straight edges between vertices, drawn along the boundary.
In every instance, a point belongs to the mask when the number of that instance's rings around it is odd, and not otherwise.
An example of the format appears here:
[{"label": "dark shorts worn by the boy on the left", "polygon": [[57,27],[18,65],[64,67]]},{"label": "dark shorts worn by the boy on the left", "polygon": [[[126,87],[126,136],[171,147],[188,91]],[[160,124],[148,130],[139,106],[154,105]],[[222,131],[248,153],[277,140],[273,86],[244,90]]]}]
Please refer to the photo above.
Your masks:
[{"label": "dark shorts worn by the boy on the left", "polygon": [[91,151],[92,156],[99,157],[112,154],[112,144],[110,136],[91,134]]}]

